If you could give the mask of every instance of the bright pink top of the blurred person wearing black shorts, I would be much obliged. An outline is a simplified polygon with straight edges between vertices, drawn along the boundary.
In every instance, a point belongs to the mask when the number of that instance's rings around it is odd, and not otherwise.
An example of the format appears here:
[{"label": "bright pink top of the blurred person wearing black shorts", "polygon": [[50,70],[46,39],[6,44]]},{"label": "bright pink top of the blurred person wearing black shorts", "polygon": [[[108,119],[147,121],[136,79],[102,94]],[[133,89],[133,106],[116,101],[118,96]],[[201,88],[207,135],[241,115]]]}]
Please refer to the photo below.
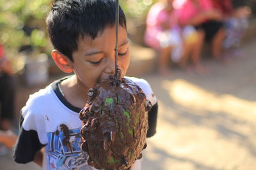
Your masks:
[{"label": "bright pink top of the blurred person wearing black shorts", "polygon": [[212,10],[214,7],[210,0],[198,0],[199,6],[196,6],[193,0],[187,0],[180,8],[180,23],[188,24],[191,18],[195,17],[202,11]]}]

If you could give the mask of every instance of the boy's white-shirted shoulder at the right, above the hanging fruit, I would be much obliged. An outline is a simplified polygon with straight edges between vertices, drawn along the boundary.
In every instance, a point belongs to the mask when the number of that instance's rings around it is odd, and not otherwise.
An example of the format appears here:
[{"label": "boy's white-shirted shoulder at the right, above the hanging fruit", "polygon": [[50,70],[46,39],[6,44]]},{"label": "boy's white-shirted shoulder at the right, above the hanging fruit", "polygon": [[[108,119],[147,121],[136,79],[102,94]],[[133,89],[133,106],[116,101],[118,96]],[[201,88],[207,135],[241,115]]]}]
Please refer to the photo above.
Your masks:
[{"label": "boy's white-shirted shoulder at the right, above the hanging fruit", "polygon": [[154,95],[154,92],[151,89],[147,80],[143,78],[136,78],[136,77],[129,77],[129,76],[125,76],[125,78],[128,78],[129,80],[134,81],[134,83],[136,83],[136,85],[138,85],[143,90],[147,99],[152,103],[152,105],[157,103],[157,98]]}]

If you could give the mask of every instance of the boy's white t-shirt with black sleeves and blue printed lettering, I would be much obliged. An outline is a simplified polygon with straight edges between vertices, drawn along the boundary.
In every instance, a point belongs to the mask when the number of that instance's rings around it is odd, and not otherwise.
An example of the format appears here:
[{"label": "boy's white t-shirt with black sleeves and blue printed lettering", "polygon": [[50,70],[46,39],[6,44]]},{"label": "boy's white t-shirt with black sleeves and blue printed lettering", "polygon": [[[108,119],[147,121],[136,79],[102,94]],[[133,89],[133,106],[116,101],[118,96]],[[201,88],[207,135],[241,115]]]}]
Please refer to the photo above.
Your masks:
[{"label": "boy's white t-shirt with black sleeves and blue printed lettering", "polygon": [[[140,86],[153,107],[157,105],[147,81],[126,78]],[[43,169],[95,169],[87,164],[87,153],[80,148],[82,124],[78,113],[81,108],[72,106],[61,94],[59,85],[65,79],[54,81],[29,96],[21,110],[20,134],[14,150],[16,162],[33,161],[35,153],[45,146]],[[150,136],[156,132],[156,124],[154,126]],[[135,164],[132,170],[140,170],[140,161]]]}]

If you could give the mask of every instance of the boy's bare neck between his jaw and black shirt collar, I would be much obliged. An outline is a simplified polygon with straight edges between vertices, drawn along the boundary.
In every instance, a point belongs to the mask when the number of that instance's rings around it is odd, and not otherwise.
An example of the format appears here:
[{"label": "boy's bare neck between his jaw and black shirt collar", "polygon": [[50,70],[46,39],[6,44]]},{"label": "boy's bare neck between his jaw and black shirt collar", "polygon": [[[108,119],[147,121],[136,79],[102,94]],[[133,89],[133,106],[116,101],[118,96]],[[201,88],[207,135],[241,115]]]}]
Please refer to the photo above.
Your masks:
[{"label": "boy's bare neck between his jaw and black shirt collar", "polygon": [[61,81],[60,87],[63,91],[65,99],[70,104],[76,106],[77,108],[84,108],[88,99],[88,88],[79,83],[76,75]]}]

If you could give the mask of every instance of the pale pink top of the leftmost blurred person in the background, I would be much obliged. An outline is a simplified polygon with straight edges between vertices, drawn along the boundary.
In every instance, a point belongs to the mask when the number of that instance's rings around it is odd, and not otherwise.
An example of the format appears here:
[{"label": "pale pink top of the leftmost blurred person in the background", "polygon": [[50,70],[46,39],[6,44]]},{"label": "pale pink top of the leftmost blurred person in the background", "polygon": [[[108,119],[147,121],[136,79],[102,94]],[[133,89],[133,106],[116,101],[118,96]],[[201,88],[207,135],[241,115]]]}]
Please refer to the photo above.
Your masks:
[{"label": "pale pink top of the leftmost blurred person in the background", "polygon": [[159,32],[166,31],[163,24],[169,25],[170,29],[178,27],[177,12],[168,13],[161,3],[154,4],[147,15],[147,29],[145,32],[145,43],[155,49],[159,49],[159,40],[156,38]]}]

